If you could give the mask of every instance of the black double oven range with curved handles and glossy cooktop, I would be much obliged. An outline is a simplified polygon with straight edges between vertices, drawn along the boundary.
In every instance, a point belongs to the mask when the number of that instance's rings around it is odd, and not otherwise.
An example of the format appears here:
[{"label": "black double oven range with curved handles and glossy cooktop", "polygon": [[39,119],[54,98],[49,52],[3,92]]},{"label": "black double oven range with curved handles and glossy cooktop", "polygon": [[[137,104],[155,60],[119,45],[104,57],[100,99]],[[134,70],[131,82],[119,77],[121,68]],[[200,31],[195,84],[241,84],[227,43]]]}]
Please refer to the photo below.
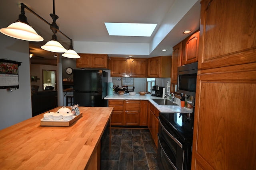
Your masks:
[{"label": "black double oven range with curved handles and glossy cooktop", "polygon": [[160,113],[158,119],[160,169],[190,170],[194,111],[193,113]]}]

